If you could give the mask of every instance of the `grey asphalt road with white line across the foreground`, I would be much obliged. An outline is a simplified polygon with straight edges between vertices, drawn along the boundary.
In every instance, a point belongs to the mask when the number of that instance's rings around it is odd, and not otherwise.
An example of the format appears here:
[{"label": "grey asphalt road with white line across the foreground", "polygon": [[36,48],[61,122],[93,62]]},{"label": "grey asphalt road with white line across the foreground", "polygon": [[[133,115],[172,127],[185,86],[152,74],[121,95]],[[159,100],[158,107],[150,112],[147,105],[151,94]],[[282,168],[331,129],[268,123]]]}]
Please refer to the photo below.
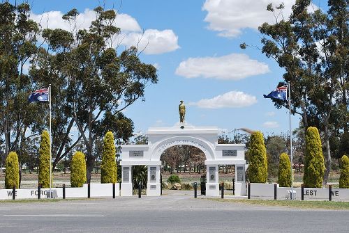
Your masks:
[{"label": "grey asphalt road with white line across the foreground", "polygon": [[0,203],[0,232],[349,232],[349,211],[192,196]]}]

